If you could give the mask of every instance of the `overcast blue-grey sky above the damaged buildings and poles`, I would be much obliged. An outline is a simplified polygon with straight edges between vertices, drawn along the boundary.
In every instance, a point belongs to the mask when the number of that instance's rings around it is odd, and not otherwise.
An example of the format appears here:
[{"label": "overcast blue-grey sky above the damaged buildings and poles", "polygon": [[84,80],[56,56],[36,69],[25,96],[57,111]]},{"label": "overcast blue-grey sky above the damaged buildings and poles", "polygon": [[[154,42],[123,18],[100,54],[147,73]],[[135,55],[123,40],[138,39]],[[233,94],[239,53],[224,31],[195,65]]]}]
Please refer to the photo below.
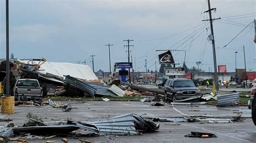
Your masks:
[{"label": "overcast blue-grey sky above the damaged buildings and poles", "polygon": [[[256,13],[254,0],[212,0],[215,45],[223,47]],[[11,1],[9,2],[10,53],[15,58],[41,58],[55,62],[86,60],[92,67],[90,55],[95,56],[95,69],[109,71],[111,64],[127,61],[127,42],[136,70],[155,69],[156,49],[186,50],[188,67],[201,61],[205,71],[213,71],[212,45],[206,0],[169,1]],[[254,14],[252,14],[254,13]],[[242,16],[240,16],[242,15]],[[235,17],[233,17],[235,16]],[[5,1],[0,1],[0,58],[5,58]],[[256,70],[254,25],[248,26],[226,48],[242,49],[245,45],[247,70]],[[217,65],[227,65],[234,71],[235,51],[216,49]],[[173,52],[174,60],[184,61],[184,52]],[[159,68],[157,63],[157,68]],[[237,67],[244,68],[242,51],[237,54]]]}]

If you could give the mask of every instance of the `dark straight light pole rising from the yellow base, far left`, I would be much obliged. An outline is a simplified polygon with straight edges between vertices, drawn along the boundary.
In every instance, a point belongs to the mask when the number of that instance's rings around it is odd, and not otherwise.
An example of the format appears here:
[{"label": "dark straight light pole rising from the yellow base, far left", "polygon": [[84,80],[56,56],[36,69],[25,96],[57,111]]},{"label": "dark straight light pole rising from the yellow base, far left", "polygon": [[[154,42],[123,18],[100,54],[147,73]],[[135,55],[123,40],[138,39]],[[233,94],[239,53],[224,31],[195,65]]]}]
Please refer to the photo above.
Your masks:
[{"label": "dark straight light pole rising from the yellow base, far left", "polygon": [[9,0],[6,0],[6,96],[10,96]]}]

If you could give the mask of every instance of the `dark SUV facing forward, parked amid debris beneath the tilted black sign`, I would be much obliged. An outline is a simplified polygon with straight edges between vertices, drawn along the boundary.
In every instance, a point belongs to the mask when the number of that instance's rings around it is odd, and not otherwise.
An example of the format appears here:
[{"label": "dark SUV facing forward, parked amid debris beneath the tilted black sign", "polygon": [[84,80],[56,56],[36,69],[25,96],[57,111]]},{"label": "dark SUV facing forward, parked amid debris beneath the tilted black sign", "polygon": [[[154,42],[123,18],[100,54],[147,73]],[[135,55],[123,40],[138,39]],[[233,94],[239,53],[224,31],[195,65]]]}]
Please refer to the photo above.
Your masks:
[{"label": "dark SUV facing forward, parked amid debris beneath the tilted black sign", "polygon": [[[165,99],[171,102],[177,99],[200,97],[200,90],[194,82],[187,78],[168,79],[164,85]],[[170,94],[167,94],[170,93]]]}]

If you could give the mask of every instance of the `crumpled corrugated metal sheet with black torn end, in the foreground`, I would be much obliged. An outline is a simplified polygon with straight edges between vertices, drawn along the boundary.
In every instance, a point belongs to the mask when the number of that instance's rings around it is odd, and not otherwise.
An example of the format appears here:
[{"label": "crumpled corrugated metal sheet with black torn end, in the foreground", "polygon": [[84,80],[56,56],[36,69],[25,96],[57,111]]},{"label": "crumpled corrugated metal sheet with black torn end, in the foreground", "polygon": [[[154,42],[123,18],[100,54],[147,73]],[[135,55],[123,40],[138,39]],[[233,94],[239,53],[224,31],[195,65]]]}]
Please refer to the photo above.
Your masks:
[{"label": "crumpled corrugated metal sheet with black torn end, in the foreground", "polygon": [[99,135],[137,135],[139,131],[152,132],[159,130],[159,124],[145,120],[142,116],[133,113],[99,121],[85,122],[85,124],[78,123],[76,125]]}]

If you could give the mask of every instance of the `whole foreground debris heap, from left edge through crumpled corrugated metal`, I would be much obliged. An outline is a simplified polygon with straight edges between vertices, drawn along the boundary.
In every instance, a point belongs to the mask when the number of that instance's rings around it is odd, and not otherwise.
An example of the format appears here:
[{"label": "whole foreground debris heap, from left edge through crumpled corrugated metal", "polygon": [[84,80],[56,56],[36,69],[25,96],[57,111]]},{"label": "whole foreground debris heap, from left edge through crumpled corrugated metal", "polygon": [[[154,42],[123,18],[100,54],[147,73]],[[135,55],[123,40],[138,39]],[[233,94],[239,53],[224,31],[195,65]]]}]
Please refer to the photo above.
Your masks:
[{"label": "whole foreground debris heap, from left edge through crumpled corrugated metal", "polygon": [[8,141],[10,137],[14,137],[14,135],[21,137],[24,134],[27,135],[27,138],[37,137],[45,139],[41,136],[54,135],[50,137],[56,137],[58,135],[71,135],[74,133],[76,133],[76,135],[91,133],[96,135],[138,135],[142,132],[154,132],[159,130],[159,123],[155,124],[153,121],[146,120],[142,116],[133,113],[93,122],[68,120],[66,124],[49,126],[43,124],[41,118],[33,116],[31,113],[27,115],[27,118],[27,123],[22,127],[1,128],[0,136]]}]

